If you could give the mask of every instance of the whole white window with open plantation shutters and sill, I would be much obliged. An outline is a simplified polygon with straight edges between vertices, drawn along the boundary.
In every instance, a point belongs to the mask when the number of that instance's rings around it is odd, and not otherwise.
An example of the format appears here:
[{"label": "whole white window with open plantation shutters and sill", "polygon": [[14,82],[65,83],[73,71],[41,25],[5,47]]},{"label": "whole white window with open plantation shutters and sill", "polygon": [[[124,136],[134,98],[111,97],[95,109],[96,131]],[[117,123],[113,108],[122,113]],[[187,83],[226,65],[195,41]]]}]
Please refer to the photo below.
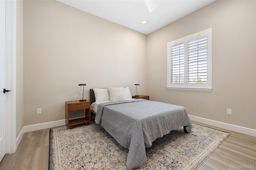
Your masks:
[{"label": "whole white window with open plantation shutters and sill", "polygon": [[167,88],[212,88],[212,29],[167,43]]}]

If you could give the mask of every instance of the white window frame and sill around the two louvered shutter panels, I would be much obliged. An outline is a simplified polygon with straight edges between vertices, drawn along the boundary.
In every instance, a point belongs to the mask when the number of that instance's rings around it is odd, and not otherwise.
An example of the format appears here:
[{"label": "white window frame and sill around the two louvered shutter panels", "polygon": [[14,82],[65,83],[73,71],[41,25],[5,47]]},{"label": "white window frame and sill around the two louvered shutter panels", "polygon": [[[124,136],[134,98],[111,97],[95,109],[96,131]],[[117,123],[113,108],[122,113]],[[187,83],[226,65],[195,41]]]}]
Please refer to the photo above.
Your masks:
[{"label": "white window frame and sill around the two louvered shutter panels", "polygon": [[[207,36],[207,83],[187,83],[187,42]],[[170,47],[184,43],[184,83],[170,83]],[[212,28],[167,43],[167,89],[212,90]]]}]

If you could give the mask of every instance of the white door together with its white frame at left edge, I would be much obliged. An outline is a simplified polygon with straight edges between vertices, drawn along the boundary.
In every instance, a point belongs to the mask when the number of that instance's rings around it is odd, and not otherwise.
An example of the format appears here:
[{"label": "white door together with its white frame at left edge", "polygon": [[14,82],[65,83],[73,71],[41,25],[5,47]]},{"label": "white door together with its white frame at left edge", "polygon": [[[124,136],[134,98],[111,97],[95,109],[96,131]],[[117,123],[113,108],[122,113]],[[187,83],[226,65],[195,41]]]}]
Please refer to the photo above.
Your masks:
[{"label": "white door together with its white frame at left edge", "polygon": [[0,0],[0,161],[16,151],[15,33],[16,1]]}]

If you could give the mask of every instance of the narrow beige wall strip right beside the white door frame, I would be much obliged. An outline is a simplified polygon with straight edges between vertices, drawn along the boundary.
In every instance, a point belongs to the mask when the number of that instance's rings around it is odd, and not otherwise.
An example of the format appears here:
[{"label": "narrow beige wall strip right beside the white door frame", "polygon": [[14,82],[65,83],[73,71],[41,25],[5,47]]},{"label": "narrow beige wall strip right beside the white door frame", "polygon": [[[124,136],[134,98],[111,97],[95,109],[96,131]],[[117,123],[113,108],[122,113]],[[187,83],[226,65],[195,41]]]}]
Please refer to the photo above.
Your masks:
[{"label": "narrow beige wall strip right beside the white door frame", "polygon": [[16,137],[23,128],[23,1],[16,1]]}]

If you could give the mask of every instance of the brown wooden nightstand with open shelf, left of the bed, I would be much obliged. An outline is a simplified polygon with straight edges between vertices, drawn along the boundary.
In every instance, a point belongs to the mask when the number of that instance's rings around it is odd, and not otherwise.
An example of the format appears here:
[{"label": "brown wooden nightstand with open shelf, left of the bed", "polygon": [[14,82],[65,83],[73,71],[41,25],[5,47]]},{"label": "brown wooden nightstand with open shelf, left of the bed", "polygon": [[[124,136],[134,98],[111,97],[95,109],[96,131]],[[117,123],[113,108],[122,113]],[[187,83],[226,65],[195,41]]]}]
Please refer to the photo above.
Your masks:
[{"label": "brown wooden nightstand with open shelf, left of the bed", "polygon": [[[88,125],[88,122],[91,121],[91,102],[90,101],[66,101],[65,102],[65,119],[67,126],[72,129],[72,126],[79,125],[82,123],[85,123],[85,125]],[[79,111],[84,110],[85,117],[80,119],[72,119],[69,120],[69,112],[70,111]]]}]

